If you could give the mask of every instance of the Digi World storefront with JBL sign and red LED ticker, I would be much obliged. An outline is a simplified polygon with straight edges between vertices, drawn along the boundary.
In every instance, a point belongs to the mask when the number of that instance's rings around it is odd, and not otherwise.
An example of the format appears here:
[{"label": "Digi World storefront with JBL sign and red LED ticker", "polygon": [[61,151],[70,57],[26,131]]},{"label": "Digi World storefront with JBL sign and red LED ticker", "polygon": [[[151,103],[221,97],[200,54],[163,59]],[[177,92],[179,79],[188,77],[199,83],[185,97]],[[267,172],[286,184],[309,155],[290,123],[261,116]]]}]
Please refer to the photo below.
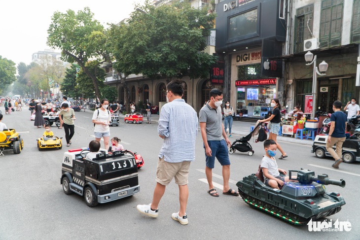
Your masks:
[{"label": "Digi World storefront with JBL sign and red LED ticker", "polygon": [[232,55],[231,102],[236,103],[236,115],[263,117],[271,110],[276,98],[276,78],[261,76],[261,51],[236,52]]}]

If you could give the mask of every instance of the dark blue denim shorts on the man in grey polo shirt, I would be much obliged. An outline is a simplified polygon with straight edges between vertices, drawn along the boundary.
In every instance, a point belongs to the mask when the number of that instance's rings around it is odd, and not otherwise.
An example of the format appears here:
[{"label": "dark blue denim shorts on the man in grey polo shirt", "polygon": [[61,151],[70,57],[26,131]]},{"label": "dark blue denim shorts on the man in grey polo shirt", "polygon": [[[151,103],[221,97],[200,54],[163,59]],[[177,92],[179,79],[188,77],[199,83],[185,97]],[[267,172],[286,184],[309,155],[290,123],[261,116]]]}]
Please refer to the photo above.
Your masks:
[{"label": "dark blue denim shorts on the man in grey polo shirt", "polygon": [[[224,139],[220,141],[208,141],[209,147],[211,148],[211,157],[206,155],[206,167],[213,169],[215,167],[215,157],[217,161],[224,165],[230,165],[229,150]],[[205,145],[204,145],[205,148]]]}]

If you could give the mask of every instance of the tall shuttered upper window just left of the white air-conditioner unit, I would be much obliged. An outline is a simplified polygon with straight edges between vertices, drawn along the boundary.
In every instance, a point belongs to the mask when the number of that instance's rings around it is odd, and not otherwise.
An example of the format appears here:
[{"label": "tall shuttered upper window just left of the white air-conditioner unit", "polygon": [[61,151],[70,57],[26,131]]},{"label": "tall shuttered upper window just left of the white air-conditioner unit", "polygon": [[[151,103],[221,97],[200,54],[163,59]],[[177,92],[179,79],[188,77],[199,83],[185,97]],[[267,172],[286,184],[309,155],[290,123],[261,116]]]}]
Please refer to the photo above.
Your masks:
[{"label": "tall shuttered upper window just left of the white air-conditioner unit", "polygon": [[[313,10],[314,5],[307,5],[301,8],[296,9],[296,18],[295,18],[295,44],[294,52],[299,53],[304,51],[304,40],[312,38],[312,34],[309,31],[309,28],[313,29]],[[309,20],[310,19],[310,20]],[[309,28],[308,28],[309,23]]]}]

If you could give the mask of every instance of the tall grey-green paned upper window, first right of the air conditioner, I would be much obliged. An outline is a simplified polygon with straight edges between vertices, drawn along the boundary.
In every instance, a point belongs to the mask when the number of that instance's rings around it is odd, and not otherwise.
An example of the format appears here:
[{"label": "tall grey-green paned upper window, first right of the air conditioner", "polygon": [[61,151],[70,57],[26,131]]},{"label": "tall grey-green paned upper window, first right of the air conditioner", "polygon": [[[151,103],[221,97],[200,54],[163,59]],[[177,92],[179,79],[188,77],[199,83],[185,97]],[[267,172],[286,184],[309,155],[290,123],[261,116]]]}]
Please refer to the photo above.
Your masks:
[{"label": "tall grey-green paned upper window, first right of the air conditioner", "polygon": [[320,18],[320,48],[341,45],[343,0],[323,0]]}]

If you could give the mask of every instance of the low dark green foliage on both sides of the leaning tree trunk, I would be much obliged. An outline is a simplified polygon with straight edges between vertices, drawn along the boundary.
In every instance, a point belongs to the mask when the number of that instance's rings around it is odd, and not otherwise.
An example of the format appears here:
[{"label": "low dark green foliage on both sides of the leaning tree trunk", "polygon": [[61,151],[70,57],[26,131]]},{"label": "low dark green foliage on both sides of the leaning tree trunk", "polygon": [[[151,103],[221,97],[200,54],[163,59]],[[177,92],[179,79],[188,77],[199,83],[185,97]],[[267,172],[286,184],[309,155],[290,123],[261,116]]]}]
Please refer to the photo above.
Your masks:
[{"label": "low dark green foliage on both sides of the leaning tree trunk", "polygon": [[[85,64],[86,69],[97,78],[97,84],[100,89],[105,85],[105,76],[106,72],[104,69],[99,67],[97,61],[88,62]],[[95,87],[93,80],[82,70],[80,69],[77,72],[76,77],[76,89],[79,94],[84,94],[84,98],[94,98]],[[100,95],[101,96],[101,95]]]}]

